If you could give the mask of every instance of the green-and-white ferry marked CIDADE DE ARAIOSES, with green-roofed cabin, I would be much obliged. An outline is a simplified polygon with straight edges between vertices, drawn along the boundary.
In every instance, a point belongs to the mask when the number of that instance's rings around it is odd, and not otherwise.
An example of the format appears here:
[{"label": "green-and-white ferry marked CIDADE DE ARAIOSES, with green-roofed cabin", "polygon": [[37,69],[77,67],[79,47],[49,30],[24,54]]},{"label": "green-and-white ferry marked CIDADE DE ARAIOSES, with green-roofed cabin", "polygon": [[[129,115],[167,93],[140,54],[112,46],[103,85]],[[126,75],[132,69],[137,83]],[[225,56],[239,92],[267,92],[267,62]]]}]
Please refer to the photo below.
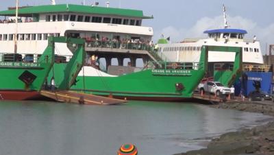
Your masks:
[{"label": "green-and-white ferry marked CIDADE DE ARAIOSES, with green-roofed cabin", "polygon": [[[86,65],[71,90],[94,95],[160,101],[192,97],[206,72],[208,48],[214,51],[214,47],[200,47],[204,52],[192,64],[163,61],[151,44],[152,27],[142,26],[142,20],[153,16],[144,16],[141,10],[110,8],[109,1],[106,7],[53,1],[51,5],[19,8],[17,33],[15,15],[12,8],[0,12],[1,52],[14,53],[14,40],[18,38],[16,54],[22,56],[21,61],[35,63],[49,36],[84,38]],[[55,43],[54,49],[58,56],[45,83],[54,78],[58,89],[64,87],[64,79],[71,78],[64,72],[77,45]],[[229,50],[233,52],[236,47]]]}]

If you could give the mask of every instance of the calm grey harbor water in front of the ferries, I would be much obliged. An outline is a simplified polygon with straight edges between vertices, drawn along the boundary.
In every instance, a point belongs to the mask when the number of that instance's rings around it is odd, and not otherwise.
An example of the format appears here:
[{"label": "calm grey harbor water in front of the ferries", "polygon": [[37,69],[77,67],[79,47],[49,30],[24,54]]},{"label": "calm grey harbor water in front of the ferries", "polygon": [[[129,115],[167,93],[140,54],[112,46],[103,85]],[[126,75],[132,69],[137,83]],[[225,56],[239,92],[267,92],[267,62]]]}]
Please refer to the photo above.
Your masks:
[{"label": "calm grey harbor water in front of the ferries", "polygon": [[114,155],[133,143],[142,155],[171,155],[269,117],[199,104],[129,102],[87,106],[0,102],[0,154]]}]

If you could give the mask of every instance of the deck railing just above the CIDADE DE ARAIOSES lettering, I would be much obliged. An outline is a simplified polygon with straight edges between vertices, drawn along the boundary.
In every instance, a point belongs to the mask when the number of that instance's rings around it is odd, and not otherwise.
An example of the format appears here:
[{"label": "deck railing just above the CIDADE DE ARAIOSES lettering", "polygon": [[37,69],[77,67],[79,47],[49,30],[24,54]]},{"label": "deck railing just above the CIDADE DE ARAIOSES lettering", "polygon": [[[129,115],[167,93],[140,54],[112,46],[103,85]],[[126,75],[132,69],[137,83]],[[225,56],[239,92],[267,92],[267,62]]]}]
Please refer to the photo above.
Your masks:
[{"label": "deck railing just above the CIDADE DE ARAIOSES lettering", "polygon": [[145,69],[199,70],[199,62],[147,62]]}]

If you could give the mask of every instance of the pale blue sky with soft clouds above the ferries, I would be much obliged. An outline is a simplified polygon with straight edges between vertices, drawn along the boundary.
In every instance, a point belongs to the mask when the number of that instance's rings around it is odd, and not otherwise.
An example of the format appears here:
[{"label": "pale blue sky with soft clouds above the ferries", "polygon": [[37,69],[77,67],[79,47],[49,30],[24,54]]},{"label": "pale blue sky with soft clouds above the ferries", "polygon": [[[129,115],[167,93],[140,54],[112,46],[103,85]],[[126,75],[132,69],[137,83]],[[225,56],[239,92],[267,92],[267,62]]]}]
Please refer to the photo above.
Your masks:
[{"label": "pale blue sky with soft clouds above the ferries", "polygon": [[[15,5],[15,0],[2,2],[0,10]],[[97,0],[105,6],[107,0]],[[55,0],[56,3],[74,3],[90,5],[90,0]],[[19,5],[44,5],[50,0],[19,0]],[[274,0],[110,0],[112,8],[129,8],[142,10],[145,16],[153,15],[153,19],[145,19],[142,25],[153,27],[153,40],[161,34],[171,37],[171,42],[184,38],[206,37],[206,29],[223,28],[223,8],[227,8],[227,21],[231,28],[246,29],[261,42],[263,53],[266,47],[274,44]]]}]

